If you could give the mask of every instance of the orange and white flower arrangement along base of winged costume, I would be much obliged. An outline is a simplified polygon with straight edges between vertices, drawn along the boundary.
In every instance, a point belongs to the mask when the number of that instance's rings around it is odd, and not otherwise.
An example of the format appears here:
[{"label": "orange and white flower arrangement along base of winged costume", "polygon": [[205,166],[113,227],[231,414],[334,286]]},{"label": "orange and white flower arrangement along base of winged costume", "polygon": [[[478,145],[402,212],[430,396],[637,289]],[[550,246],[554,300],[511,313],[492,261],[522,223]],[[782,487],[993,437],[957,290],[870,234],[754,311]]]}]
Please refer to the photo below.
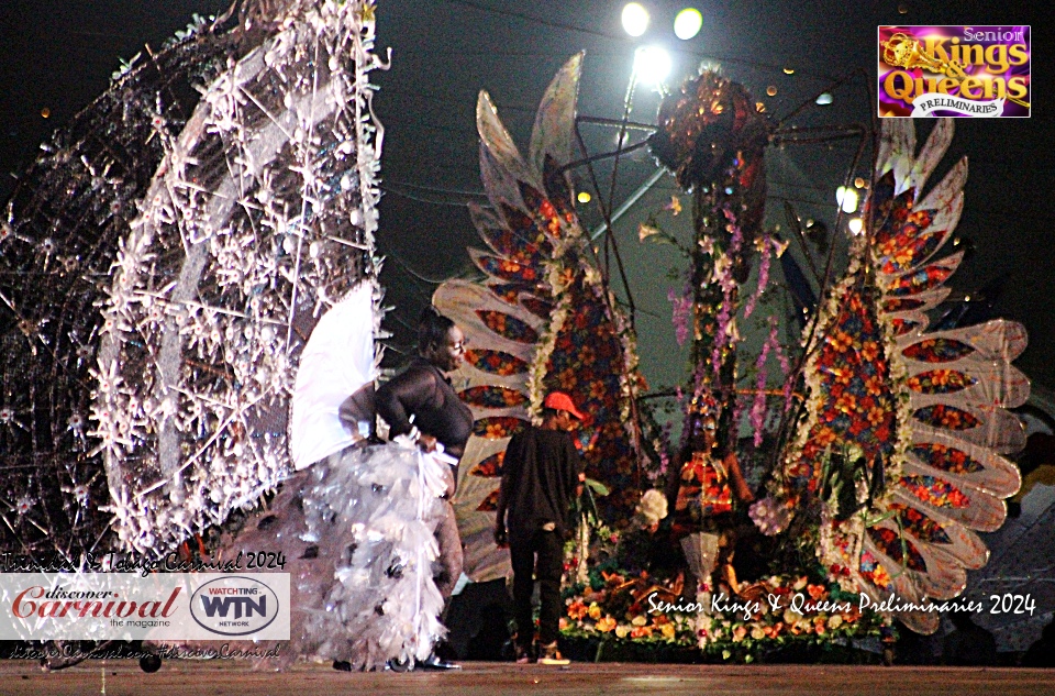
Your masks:
[{"label": "orange and white flower arrangement along base of winged costume", "polygon": [[[680,651],[692,661],[751,663],[787,652],[852,648],[878,637],[882,617],[858,608],[859,597],[837,584],[814,582],[812,573],[771,575],[744,584],[738,594],[720,585],[698,597],[684,572],[653,572],[634,534],[604,530],[590,550],[588,579],[567,585],[560,632],[569,642],[595,645],[588,659],[669,659]],[[641,541],[641,540],[638,540]],[[578,565],[569,557],[567,566]]]}]

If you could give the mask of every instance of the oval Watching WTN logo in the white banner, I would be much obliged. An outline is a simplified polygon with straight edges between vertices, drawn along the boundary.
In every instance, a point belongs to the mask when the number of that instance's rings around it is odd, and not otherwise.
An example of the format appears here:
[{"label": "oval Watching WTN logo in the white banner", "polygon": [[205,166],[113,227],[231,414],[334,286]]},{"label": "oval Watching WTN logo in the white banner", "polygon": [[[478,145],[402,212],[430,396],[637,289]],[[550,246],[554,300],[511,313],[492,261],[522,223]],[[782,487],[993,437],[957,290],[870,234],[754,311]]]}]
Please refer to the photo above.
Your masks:
[{"label": "oval Watching WTN logo in the white banner", "polygon": [[278,595],[260,581],[244,576],[208,582],[190,598],[190,615],[207,631],[247,636],[263,631],[278,617]]}]

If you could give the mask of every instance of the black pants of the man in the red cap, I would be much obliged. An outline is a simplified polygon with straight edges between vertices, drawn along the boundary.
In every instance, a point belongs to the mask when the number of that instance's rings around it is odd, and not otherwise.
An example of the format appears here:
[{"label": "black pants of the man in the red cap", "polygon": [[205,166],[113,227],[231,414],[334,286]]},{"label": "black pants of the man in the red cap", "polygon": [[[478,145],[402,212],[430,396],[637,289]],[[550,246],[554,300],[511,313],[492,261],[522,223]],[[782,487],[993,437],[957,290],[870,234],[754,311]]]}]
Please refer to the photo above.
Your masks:
[{"label": "black pants of the man in the red cap", "polygon": [[[537,565],[535,554],[538,554]],[[548,645],[557,640],[560,621],[560,575],[564,572],[564,542],[557,532],[536,531],[529,540],[510,540],[510,561],[513,565],[513,605],[517,618],[517,642],[531,645],[532,575],[538,578],[538,641]]]}]

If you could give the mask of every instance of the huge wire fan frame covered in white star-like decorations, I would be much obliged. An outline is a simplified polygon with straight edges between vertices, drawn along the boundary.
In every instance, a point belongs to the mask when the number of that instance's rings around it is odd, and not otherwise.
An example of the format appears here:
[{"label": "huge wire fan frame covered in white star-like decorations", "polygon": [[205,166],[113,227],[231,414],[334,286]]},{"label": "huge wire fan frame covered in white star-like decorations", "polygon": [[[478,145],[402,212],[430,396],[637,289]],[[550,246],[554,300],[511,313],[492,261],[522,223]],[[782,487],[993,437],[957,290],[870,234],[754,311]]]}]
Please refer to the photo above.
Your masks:
[{"label": "huge wire fan frame covered in white star-like decorations", "polygon": [[373,3],[232,24],[120,76],[9,206],[4,549],[156,554],[254,502],[299,350],[375,275]]}]

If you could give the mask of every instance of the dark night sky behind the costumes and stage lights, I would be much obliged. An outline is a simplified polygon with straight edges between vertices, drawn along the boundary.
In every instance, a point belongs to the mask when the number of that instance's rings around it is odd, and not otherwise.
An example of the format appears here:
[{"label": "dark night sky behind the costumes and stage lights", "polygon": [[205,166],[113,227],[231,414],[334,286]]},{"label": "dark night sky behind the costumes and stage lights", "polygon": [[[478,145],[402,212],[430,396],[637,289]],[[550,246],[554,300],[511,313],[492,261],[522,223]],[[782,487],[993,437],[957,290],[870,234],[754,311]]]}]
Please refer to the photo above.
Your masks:
[{"label": "dark night sky behind the costumes and stage lights", "polygon": [[[0,198],[7,200],[14,176],[38,152],[49,131],[88,107],[109,84],[110,74],[148,44],[159,47],[186,26],[193,13],[215,14],[216,0],[4,0],[0,3]],[[876,91],[876,27],[879,24],[1032,24],[1043,3],[1009,2],[789,2],[763,0],[693,2],[703,30],[679,42],[670,27],[688,2],[644,2],[653,9],[653,27],[640,40],[620,27],[622,2],[599,0],[393,0],[378,2],[379,53],[392,48],[391,68],[375,73],[380,87],[377,115],[386,129],[382,156],[385,198],[378,244],[388,256],[382,277],[397,310],[390,318],[397,345],[408,342],[403,325],[413,320],[434,289],[432,281],[468,267],[466,245],[479,244],[465,203],[482,200],[478,141],[474,124],[476,95],[487,89],[514,140],[526,146],[534,109],[559,66],[586,51],[580,113],[615,119],[622,112],[634,48],[666,44],[674,51],[676,85],[701,62],[721,66],[766,103],[776,120],[810,103],[787,123],[844,125],[870,118]],[[970,250],[954,276],[954,297],[987,298],[996,316],[1017,319],[1030,332],[1030,347],[1018,365],[1035,382],[1055,386],[1055,252],[1052,250],[1052,197],[1055,191],[1050,146],[1051,45],[1034,36],[1030,119],[958,119],[946,159],[967,155],[970,173],[958,236]],[[793,69],[787,75],[785,68]],[[811,98],[833,82],[830,107]],[[766,97],[767,87],[775,97]],[[631,118],[654,122],[658,97],[644,88],[634,98]],[[47,114],[47,118],[44,118]],[[918,122],[921,130],[929,123]],[[595,152],[610,150],[614,133],[588,132]],[[846,175],[855,143],[800,146],[767,155],[770,224],[784,218],[782,201],[803,217],[834,222],[833,190]],[[637,188],[655,163],[646,152],[622,161],[615,201]],[[854,174],[867,175],[860,166]],[[607,181],[609,169],[599,175]],[[936,181],[936,179],[932,179]],[[607,189],[607,184],[604,186]],[[669,336],[667,278],[663,258],[636,242],[636,221],[649,207],[678,191],[662,180],[623,224],[621,248],[632,266],[638,300],[638,328]],[[607,194],[607,190],[606,190]],[[585,227],[599,218],[584,211]],[[669,261],[667,258],[666,261]],[[673,263],[673,262],[671,262]],[[658,266],[656,264],[659,264]],[[643,356],[662,383],[669,375],[655,365],[680,364],[665,354],[666,343],[643,345]],[[671,349],[676,350],[676,349]],[[654,365],[649,367],[649,364]],[[675,374],[671,379],[677,379]]]}]

